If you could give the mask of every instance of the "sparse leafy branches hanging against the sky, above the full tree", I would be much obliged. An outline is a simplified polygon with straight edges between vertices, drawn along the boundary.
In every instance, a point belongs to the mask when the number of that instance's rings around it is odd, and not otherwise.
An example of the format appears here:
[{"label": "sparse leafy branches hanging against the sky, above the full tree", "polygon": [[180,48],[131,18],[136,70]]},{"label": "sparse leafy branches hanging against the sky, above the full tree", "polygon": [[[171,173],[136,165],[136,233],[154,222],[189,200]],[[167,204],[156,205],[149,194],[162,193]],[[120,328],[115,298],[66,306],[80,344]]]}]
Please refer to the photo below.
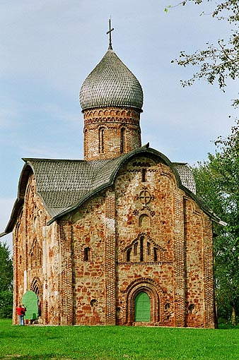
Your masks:
[{"label": "sparse leafy branches hanging against the sky, above the full tree", "polygon": [[[189,1],[194,2],[194,4],[205,2],[205,0],[185,0],[176,6],[185,6]],[[212,0],[207,1],[214,2]],[[175,6],[168,6],[168,8],[170,7]],[[168,8],[165,8],[165,11],[168,11]],[[175,61],[181,66],[199,66],[199,71],[194,73],[192,78],[182,81],[183,86],[192,85],[196,79],[203,78],[209,84],[216,81],[219,88],[224,91],[228,78],[235,80],[239,77],[239,1],[221,0],[218,3],[215,1],[214,11],[207,15],[211,15],[216,20],[227,21],[231,27],[231,36],[228,39],[218,39],[217,44],[207,42],[206,49],[197,50],[193,54],[186,54],[182,51],[179,59]],[[233,100],[235,107],[238,104],[238,98]]]}]

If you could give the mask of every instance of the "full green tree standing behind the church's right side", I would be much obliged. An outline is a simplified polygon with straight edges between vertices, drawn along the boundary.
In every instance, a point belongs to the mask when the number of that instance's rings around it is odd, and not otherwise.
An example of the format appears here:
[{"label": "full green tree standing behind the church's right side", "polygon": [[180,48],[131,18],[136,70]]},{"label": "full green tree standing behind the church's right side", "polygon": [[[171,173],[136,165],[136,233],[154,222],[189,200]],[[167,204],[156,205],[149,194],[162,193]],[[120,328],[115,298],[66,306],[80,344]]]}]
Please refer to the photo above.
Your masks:
[{"label": "full green tree standing behind the church's right side", "polygon": [[[193,172],[198,195],[225,222],[215,224],[214,273],[218,316],[239,316],[239,121],[228,138],[215,142],[215,155],[199,162]],[[225,226],[226,225],[226,226]]]}]

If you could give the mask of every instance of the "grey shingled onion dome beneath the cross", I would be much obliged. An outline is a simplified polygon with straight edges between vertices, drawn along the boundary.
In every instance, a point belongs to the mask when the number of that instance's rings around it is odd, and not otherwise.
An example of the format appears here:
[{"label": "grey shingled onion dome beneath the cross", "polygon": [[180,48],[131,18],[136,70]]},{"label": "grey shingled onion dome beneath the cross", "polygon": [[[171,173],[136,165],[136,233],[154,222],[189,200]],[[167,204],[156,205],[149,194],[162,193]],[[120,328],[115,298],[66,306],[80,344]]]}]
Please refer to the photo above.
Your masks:
[{"label": "grey shingled onion dome beneath the cross", "polygon": [[141,109],[143,90],[129,68],[112,49],[108,49],[83,82],[80,103],[83,110],[107,106]]}]

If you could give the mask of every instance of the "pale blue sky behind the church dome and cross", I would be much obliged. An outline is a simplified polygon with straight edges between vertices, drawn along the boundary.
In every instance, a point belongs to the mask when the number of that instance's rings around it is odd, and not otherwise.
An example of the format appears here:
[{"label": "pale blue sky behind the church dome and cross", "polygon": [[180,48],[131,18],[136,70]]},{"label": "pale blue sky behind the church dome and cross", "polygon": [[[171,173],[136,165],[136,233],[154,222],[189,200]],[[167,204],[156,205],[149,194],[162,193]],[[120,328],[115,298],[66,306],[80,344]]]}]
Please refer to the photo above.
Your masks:
[{"label": "pale blue sky behind the church dome and cross", "polygon": [[[214,3],[214,1],[212,1]],[[227,23],[199,16],[211,2],[168,0],[0,1],[0,232],[16,200],[22,157],[83,158],[78,92],[112,45],[144,90],[142,143],[173,162],[206,160],[233,125],[238,81],[226,93],[206,81],[182,88],[194,69],[171,64],[181,50],[227,38]],[[231,115],[231,118],[228,118]],[[11,246],[11,235],[1,238]]]}]

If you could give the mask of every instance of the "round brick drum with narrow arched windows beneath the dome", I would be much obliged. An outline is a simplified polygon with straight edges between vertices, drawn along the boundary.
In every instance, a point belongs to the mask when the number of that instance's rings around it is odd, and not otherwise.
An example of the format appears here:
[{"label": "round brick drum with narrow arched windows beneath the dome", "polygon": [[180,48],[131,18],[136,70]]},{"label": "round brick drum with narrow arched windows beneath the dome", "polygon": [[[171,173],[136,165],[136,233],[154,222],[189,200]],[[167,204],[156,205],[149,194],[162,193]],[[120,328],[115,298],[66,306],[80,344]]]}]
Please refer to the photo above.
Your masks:
[{"label": "round brick drum with narrow arched windows beneath the dome", "polygon": [[140,112],[109,107],[86,110],[84,116],[84,159],[112,159],[141,147]]}]

